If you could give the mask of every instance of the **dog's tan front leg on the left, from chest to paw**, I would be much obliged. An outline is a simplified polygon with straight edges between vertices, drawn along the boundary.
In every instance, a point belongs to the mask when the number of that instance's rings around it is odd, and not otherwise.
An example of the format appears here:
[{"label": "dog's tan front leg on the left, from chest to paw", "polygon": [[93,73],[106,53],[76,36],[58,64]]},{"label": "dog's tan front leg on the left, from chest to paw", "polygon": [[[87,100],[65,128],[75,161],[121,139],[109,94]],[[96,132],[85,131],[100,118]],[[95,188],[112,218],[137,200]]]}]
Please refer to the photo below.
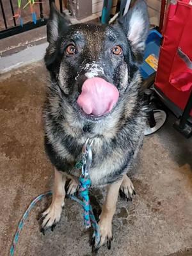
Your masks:
[{"label": "dog's tan front leg on the left, from chest to paw", "polygon": [[49,227],[53,230],[56,223],[60,221],[61,211],[64,205],[65,199],[65,182],[66,175],[61,173],[56,168],[54,168],[54,188],[52,191],[52,202],[49,208],[42,213],[42,233]]}]

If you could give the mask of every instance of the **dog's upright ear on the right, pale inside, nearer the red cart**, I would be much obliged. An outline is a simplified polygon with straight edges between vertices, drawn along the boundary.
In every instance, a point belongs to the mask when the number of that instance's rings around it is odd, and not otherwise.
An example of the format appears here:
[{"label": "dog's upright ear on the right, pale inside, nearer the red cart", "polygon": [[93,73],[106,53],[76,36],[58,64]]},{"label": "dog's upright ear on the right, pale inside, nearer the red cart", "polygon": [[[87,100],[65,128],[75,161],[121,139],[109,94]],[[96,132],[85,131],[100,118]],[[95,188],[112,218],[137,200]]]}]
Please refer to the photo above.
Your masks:
[{"label": "dog's upright ear on the right, pale inside, nearer the red cart", "polygon": [[[144,0],[138,0],[134,6],[123,17],[118,19],[118,24],[122,26],[129,42],[131,42],[132,51],[140,60],[145,49],[145,40],[147,39],[149,20],[147,4]],[[141,58],[142,59],[142,58]]]}]

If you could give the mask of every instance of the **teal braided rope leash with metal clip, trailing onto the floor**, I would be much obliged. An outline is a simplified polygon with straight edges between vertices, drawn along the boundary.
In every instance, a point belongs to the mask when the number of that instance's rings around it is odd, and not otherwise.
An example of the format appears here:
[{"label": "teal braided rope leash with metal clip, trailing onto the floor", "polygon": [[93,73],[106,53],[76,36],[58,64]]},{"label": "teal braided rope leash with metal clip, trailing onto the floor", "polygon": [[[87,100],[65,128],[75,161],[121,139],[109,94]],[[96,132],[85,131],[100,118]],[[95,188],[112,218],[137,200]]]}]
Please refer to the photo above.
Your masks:
[{"label": "teal braided rope leash with metal clip, trailing onto the floor", "polygon": [[[93,143],[93,141],[92,141]],[[74,195],[67,196],[68,198],[76,201],[77,203],[81,204],[83,207],[83,218],[84,218],[84,225],[86,228],[93,227],[93,238],[95,239],[95,244],[99,244],[100,241],[100,232],[99,232],[99,225],[97,224],[97,221],[95,220],[95,216],[93,214],[92,205],[90,204],[90,198],[89,198],[89,188],[91,186],[91,180],[90,180],[90,166],[92,164],[92,143],[89,143],[89,140],[86,141],[86,143],[83,146],[83,159],[82,161],[79,161],[75,168],[78,168],[82,170],[81,177],[79,178],[79,196],[83,199],[80,200]],[[24,221],[29,216],[29,212],[35,207],[35,205],[40,202],[45,196],[52,195],[52,191],[47,191],[44,194],[36,196],[35,199],[29,204],[28,209],[24,212],[22,218],[19,221],[19,225],[17,227],[17,230],[15,232],[15,236],[13,237],[12,246],[10,248],[10,256],[13,256],[15,253],[15,247],[19,241],[19,235],[24,227]]]}]

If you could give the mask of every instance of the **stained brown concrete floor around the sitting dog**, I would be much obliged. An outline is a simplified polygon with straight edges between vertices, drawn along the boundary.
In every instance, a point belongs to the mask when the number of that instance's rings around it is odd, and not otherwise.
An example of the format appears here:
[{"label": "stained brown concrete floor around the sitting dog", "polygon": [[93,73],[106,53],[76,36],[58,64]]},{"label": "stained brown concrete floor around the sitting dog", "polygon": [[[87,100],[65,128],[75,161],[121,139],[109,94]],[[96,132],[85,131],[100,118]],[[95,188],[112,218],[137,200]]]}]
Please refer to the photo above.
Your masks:
[{"label": "stained brown concrete floor around the sitting dog", "polygon": [[[0,81],[0,248],[8,255],[18,221],[29,202],[52,186],[52,166],[44,152],[42,104],[47,73],[42,63],[1,76]],[[113,220],[111,251],[99,255],[192,255],[192,140],[172,128],[145,138],[132,181],[132,202],[119,198]],[[101,205],[103,191],[93,191]],[[45,236],[36,217],[49,204],[33,209],[19,237],[15,256],[92,255],[90,231],[84,230],[81,207],[67,200],[61,221]]]}]

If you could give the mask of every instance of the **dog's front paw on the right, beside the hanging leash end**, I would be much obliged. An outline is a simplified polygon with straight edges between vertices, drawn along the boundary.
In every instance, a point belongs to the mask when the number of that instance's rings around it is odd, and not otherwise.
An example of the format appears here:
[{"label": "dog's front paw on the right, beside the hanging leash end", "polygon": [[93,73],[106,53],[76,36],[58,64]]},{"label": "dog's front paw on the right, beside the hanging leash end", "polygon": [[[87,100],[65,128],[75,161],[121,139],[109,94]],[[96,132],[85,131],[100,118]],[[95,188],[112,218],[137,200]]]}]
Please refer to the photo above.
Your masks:
[{"label": "dog's front paw on the right, beside the hanging leash end", "polygon": [[112,225],[108,220],[104,219],[99,221],[99,232],[100,241],[98,243],[95,243],[95,237],[92,238],[92,249],[95,253],[97,253],[100,246],[104,244],[107,244],[108,250],[110,250],[111,241],[113,240]]}]

